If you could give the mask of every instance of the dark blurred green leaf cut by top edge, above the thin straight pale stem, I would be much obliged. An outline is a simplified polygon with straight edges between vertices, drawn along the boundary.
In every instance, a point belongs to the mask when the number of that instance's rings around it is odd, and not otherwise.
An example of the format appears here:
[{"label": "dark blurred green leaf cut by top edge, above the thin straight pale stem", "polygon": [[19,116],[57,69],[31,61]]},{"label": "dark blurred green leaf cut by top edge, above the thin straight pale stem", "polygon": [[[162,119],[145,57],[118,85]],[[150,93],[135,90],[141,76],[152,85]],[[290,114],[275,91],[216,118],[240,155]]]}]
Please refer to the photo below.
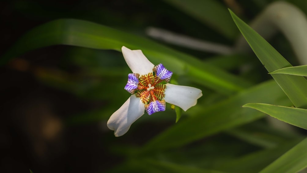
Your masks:
[{"label": "dark blurred green leaf cut by top edge, above the thin straight pale stem", "polygon": [[186,14],[196,18],[227,38],[235,38],[237,30],[231,22],[226,6],[215,0],[165,0]]}]

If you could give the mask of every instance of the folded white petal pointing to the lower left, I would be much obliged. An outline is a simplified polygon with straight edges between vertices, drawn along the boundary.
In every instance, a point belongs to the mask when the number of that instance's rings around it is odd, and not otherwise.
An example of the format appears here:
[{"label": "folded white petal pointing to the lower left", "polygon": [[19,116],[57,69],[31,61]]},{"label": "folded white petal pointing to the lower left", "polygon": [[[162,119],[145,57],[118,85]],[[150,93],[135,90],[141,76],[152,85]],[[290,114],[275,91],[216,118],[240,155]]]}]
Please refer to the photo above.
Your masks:
[{"label": "folded white petal pointing to the lower left", "polygon": [[108,120],[107,126],[115,136],[128,132],[131,124],[144,115],[145,105],[140,98],[131,95],[129,99]]}]

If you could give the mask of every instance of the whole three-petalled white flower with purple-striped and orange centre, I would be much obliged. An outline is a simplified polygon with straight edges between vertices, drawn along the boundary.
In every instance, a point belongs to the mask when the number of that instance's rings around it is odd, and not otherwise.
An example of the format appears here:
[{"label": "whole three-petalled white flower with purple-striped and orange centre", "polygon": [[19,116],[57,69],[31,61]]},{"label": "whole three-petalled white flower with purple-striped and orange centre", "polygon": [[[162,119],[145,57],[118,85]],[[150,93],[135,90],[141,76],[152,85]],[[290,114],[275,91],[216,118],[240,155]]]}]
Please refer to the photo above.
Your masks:
[{"label": "whole three-petalled white flower with purple-striped and orange centre", "polygon": [[125,86],[132,95],[107,122],[108,128],[114,130],[115,136],[124,135],[145,110],[149,115],[165,111],[167,102],[186,111],[196,105],[197,99],[202,96],[198,88],[161,84],[162,81],[169,82],[173,73],[162,64],[154,66],[141,50],[130,50],[122,46],[122,54],[132,71],[128,74]]}]

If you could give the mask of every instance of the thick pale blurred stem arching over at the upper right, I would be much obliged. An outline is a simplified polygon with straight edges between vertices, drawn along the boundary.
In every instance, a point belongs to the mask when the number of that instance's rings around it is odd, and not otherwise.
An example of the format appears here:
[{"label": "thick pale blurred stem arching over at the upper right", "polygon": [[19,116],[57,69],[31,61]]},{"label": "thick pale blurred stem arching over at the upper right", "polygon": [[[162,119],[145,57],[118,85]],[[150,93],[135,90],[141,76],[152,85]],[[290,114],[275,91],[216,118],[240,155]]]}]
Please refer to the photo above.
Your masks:
[{"label": "thick pale blurred stem arching over at the upper right", "polygon": [[[266,40],[281,31],[290,42],[301,65],[307,65],[307,18],[296,6],[287,2],[274,2],[266,7],[250,26]],[[251,48],[241,36],[236,52],[248,52]]]}]

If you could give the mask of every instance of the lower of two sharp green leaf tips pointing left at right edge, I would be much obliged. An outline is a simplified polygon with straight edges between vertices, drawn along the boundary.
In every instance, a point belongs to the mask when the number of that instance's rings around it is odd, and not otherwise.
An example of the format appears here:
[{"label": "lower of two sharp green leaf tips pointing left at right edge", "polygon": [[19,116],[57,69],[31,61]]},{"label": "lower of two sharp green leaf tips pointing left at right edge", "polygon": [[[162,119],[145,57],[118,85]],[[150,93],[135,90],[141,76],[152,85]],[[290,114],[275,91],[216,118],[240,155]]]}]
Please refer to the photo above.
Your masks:
[{"label": "lower of two sharp green leaf tips pointing left at right edge", "polygon": [[307,129],[307,109],[276,106],[263,103],[248,103],[242,107],[256,109],[268,114],[269,116],[277,118],[278,120]]}]

